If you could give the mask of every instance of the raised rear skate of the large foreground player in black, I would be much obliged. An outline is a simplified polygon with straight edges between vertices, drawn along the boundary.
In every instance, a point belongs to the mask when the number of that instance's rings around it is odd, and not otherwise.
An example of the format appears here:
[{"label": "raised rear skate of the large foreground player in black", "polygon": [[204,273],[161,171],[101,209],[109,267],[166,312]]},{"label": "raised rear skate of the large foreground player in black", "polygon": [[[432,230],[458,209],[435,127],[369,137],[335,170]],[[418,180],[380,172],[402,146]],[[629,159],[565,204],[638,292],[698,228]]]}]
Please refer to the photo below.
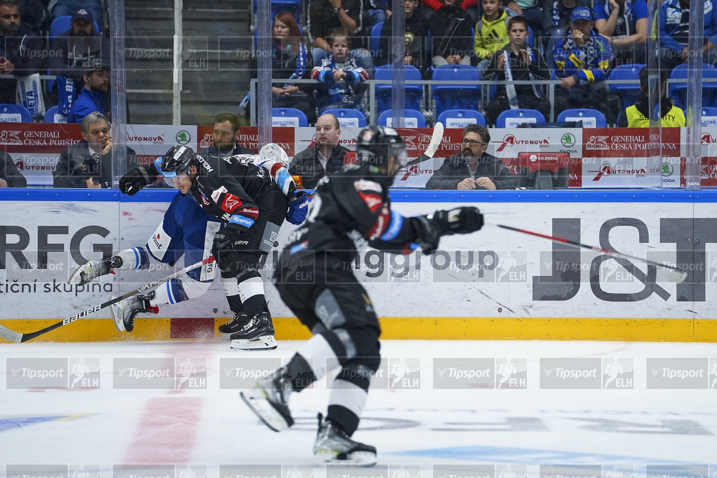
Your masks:
[{"label": "raised rear skate of the large foreground player in black", "polygon": [[240,392],[239,396],[266,426],[282,431],[294,424],[288,404],[291,391],[286,369],[282,367],[257,380],[255,388]]}]

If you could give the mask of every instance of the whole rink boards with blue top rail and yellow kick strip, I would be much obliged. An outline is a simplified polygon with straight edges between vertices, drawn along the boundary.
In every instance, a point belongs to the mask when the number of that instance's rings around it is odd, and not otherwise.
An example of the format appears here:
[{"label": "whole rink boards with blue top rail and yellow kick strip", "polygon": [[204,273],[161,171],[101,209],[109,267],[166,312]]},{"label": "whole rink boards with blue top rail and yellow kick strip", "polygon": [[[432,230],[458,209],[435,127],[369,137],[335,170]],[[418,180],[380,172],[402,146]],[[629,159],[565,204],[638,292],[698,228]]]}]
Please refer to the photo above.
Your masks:
[{"label": "whole rink boards with blue top rail and yellow kick strip", "polygon": [[[18,190],[0,192],[0,319],[39,330],[164,277],[172,268],[123,272],[88,287],[66,285],[78,264],[144,244],[174,191]],[[663,269],[611,259],[495,226],[447,236],[432,257],[362,251],[364,283],[386,338],[581,338],[717,341],[717,191],[392,191],[405,216],[474,204],[486,221],[679,264]],[[285,224],[278,241],[294,226]],[[267,260],[265,277],[278,254]],[[182,267],[183,264],[177,264]],[[305,338],[267,286],[277,338]],[[127,340],[212,336],[230,315],[219,284],[203,297],[163,307]],[[49,340],[112,340],[109,310],[47,334]],[[42,339],[41,338],[41,339]],[[36,340],[41,340],[36,339]]]}]

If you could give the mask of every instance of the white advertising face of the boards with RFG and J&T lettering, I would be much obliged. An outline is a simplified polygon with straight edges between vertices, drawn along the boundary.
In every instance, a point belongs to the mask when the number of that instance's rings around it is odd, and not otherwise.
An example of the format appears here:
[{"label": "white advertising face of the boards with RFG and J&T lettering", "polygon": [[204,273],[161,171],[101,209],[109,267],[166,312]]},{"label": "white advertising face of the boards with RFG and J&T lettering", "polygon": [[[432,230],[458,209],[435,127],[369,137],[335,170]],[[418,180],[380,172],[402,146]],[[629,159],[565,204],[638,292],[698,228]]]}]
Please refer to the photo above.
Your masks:
[{"label": "white advertising face of the boards with RFG and J&T lettering", "polygon": [[[8,199],[1,201],[1,210],[12,211],[0,214],[3,318],[62,319],[183,267],[180,261],[175,267],[154,264],[146,271],[108,274],[92,287],[65,283],[89,259],[146,244],[173,193],[151,192],[143,196],[145,202],[118,203],[112,191],[77,191],[74,200],[75,191],[65,191],[67,197],[55,202],[14,201],[0,191],[0,199]],[[81,201],[88,193],[91,200]],[[490,226],[442,238],[432,256],[362,251],[353,272],[382,317],[712,318],[708,297],[717,292],[717,191],[703,191],[699,202],[686,200],[686,191],[644,193],[654,199],[609,202],[600,191],[554,191],[550,204],[530,202],[528,196],[518,204],[484,198],[480,209],[487,217],[500,217],[501,224],[680,264],[688,272],[685,282],[667,282],[663,269],[638,260]],[[393,207],[404,216],[451,209],[460,205],[452,202],[455,194],[432,193],[436,202],[427,204],[423,191],[402,191],[402,202]],[[665,196],[671,201],[660,202]],[[149,202],[152,197],[163,200]],[[282,226],[279,248],[294,229]],[[272,276],[277,259],[276,251],[269,254],[265,277]],[[161,316],[227,317],[218,282],[199,299],[163,307]],[[267,298],[272,315],[293,316],[271,285]],[[109,312],[95,315],[107,318]]]}]

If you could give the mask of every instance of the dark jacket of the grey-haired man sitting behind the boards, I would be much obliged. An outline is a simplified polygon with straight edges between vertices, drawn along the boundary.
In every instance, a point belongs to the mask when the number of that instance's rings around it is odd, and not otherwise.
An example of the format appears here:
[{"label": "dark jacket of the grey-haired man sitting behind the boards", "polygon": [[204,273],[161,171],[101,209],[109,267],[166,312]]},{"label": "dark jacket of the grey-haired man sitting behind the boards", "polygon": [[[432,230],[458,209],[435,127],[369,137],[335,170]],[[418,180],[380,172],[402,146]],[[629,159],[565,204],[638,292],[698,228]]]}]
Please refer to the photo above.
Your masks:
[{"label": "dark jacket of the grey-haired man sitting behind the boards", "polygon": [[[113,148],[115,145],[113,145]],[[132,148],[123,148],[122,158],[127,161],[127,168],[137,166],[137,154]],[[100,161],[90,155],[87,141],[82,140],[62,150],[57,171],[52,172],[55,188],[86,188],[88,178],[94,177],[103,188],[112,187],[112,153],[103,154]],[[97,182],[95,182],[97,184]]]}]

